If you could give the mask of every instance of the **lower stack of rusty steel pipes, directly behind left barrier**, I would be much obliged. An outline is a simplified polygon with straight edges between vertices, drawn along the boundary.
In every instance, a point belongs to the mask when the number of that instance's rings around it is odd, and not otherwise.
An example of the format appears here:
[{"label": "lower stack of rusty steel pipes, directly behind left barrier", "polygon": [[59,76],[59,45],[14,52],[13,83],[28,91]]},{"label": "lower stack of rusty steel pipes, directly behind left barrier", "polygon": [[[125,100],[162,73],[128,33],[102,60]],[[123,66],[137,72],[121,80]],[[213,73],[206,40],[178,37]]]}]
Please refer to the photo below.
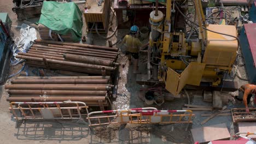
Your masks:
[{"label": "lower stack of rusty steel pipes, directly behind left barrier", "polygon": [[83,101],[97,106],[102,101],[108,105],[106,97],[112,94],[109,76],[21,76],[5,85],[9,93],[7,101]]}]

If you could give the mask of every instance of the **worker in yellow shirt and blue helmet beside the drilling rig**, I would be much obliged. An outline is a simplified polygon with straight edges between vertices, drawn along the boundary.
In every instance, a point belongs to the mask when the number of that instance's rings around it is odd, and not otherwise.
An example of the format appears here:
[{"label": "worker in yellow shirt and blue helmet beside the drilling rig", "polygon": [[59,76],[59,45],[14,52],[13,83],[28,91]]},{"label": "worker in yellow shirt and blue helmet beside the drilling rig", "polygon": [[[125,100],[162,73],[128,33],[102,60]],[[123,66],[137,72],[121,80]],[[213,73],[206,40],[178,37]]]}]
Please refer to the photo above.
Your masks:
[{"label": "worker in yellow shirt and blue helmet beside the drilling rig", "polygon": [[136,35],[138,33],[137,26],[132,26],[130,30],[130,34],[125,35],[122,44],[126,45],[125,55],[127,56],[130,64],[133,59],[133,73],[136,74],[138,71],[139,49],[143,49],[148,44],[142,45],[141,41],[136,38]]}]

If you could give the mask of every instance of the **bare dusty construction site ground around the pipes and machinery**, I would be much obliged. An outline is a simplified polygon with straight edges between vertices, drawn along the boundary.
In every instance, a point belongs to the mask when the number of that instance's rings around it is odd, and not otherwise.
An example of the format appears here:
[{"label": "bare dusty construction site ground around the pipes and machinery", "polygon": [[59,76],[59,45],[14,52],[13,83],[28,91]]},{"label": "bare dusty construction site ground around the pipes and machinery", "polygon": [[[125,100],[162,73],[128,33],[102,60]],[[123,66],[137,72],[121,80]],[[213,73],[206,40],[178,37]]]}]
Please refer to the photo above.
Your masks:
[{"label": "bare dusty construction site ground around the pipes and machinery", "polygon": [[[83,5],[79,6],[83,10]],[[13,21],[11,31],[13,38],[19,37],[19,28],[21,21],[17,20],[16,14],[11,10],[13,8],[12,1],[0,1],[0,12],[9,14],[10,19]],[[31,22],[37,22],[38,19],[30,19]],[[85,35],[85,22],[83,34]],[[115,23],[112,26],[114,29]],[[129,29],[118,29],[114,35],[112,42],[121,38],[129,32]],[[109,31],[109,34],[112,31]],[[37,35],[39,38],[39,34]],[[100,39],[94,34],[94,44],[96,45],[108,45],[107,40]],[[144,40],[143,43],[147,43]],[[118,44],[117,47],[121,48]],[[242,57],[239,61],[242,63]],[[126,57],[123,53],[118,58],[119,63],[125,63]],[[147,67],[146,55],[141,53],[139,58],[139,71],[142,74],[146,74]],[[9,74],[16,73],[22,67],[22,64],[11,67]],[[243,77],[246,77],[246,71],[243,67],[238,68]],[[21,74],[25,74],[22,72]],[[46,73],[47,74],[47,73]],[[32,75],[32,74],[31,74]],[[49,75],[52,75],[49,73]],[[34,76],[34,75],[33,75]],[[127,64],[124,68],[119,68],[119,83],[117,99],[113,101],[112,109],[129,109],[135,107],[149,107],[139,98],[139,89],[135,81],[136,75],[132,73],[132,65]],[[231,77],[226,76],[225,79],[232,80]],[[241,86],[247,81],[242,81],[235,78],[238,82],[238,86]],[[8,82],[8,81],[7,81]],[[211,103],[203,102],[201,91],[189,91],[190,104],[195,105],[207,105],[211,106]],[[6,101],[8,97],[7,92],[4,90],[4,86],[1,88],[0,95],[0,143],[193,143],[190,129],[186,131],[187,124],[110,124],[103,127],[93,127],[89,129],[87,124],[76,123],[71,121],[25,121],[22,122],[18,128],[16,128],[16,120],[12,113],[9,112],[9,103]],[[172,101],[166,101],[161,106],[150,105],[150,107],[156,107],[159,110],[181,110],[184,104],[188,103],[187,96],[181,94],[181,98],[176,98]],[[228,108],[243,107],[241,103],[228,105]],[[192,128],[202,127],[206,125],[213,125],[219,123],[226,123],[230,134],[234,134],[237,130],[237,126],[232,123],[231,116],[219,116],[214,117],[206,124],[200,123],[207,117],[201,117],[201,113],[214,113],[216,111],[194,111],[195,117],[193,117]]]}]

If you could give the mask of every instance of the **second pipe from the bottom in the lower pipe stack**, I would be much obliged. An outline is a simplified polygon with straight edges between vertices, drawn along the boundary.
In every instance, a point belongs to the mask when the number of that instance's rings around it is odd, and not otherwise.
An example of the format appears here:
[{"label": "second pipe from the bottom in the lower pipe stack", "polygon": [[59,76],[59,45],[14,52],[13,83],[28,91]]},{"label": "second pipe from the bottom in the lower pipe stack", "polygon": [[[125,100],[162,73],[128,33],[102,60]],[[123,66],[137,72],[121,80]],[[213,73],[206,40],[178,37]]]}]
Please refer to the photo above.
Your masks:
[{"label": "second pipe from the bottom in the lower pipe stack", "polygon": [[106,95],[107,91],[72,91],[72,90],[28,90],[10,89],[9,94],[50,94],[50,95]]}]

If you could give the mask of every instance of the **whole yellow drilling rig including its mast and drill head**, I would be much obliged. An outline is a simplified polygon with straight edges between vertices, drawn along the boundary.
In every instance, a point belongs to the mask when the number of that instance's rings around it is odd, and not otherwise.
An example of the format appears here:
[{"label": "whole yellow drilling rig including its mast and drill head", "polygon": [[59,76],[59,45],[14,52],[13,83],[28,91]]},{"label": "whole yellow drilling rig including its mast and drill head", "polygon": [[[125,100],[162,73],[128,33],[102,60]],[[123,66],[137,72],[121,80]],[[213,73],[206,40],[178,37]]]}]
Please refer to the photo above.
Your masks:
[{"label": "whole yellow drilling rig including its mast and drill head", "polygon": [[[222,85],[224,74],[230,73],[237,56],[238,39],[235,26],[207,25],[200,0],[193,0],[195,21],[185,15],[185,4],[166,0],[166,13],[156,9],[150,13],[152,31],[149,37],[147,75],[137,75],[145,82],[160,82],[173,95],[182,91],[185,85]],[[182,20],[183,19],[183,20]],[[196,39],[187,35],[198,32]]]}]

